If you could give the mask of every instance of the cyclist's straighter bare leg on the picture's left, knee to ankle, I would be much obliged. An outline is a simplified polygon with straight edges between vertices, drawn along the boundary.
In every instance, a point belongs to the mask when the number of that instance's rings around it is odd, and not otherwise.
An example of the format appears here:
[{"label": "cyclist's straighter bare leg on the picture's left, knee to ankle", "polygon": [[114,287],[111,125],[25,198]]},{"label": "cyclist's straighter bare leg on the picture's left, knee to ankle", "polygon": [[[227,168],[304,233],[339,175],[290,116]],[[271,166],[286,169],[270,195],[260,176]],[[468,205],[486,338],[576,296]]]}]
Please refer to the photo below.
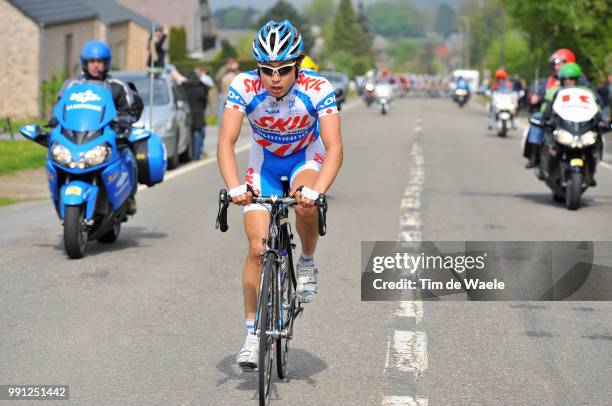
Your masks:
[{"label": "cyclist's straighter bare leg on the picture's left, knee to ankle", "polygon": [[261,253],[266,249],[263,241],[268,236],[269,221],[269,214],[264,210],[252,210],[244,213],[244,230],[249,241],[249,250],[242,271],[245,320],[255,319],[262,269]]}]

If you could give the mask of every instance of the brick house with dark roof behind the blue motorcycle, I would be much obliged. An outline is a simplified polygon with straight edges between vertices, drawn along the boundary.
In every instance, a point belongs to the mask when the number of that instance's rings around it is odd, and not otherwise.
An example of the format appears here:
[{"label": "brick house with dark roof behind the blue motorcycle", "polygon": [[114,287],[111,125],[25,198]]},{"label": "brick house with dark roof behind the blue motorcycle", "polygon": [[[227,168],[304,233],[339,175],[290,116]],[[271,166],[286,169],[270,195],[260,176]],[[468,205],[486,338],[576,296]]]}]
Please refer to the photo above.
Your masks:
[{"label": "brick house with dark roof behind the blue motorcycle", "polygon": [[152,25],[115,0],[0,0],[0,117],[38,116],[42,83],[78,74],[92,39],[110,44],[114,68],[146,69]]}]

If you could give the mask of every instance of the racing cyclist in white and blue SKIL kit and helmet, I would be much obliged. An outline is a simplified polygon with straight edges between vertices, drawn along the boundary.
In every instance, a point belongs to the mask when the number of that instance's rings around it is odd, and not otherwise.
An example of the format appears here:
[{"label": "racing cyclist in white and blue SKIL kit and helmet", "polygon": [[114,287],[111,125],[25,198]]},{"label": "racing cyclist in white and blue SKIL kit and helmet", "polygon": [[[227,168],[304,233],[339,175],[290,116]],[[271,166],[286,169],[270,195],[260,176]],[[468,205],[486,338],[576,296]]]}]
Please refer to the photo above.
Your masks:
[{"label": "racing cyclist in white and blue SKIL kit and helmet", "polygon": [[[300,70],[304,45],[288,21],[269,21],[255,35],[257,70],[243,72],[232,82],[217,145],[221,175],[235,204],[244,206],[249,243],[242,281],[247,337],[236,360],[245,371],[257,367],[258,338],[254,319],[266,249],[268,212],[251,204],[253,194],[281,195],[281,176],[290,179],[295,196],[296,228],[302,245],[297,263],[297,294],[308,303],[317,293],[313,255],[318,227],[314,206],[319,193],[332,184],[342,164],[340,118],[332,85],[312,70]],[[234,146],[246,114],[253,130],[245,183],[240,182]],[[300,189],[301,188],[301,189]],[[299,190],[298,190],[299,189]]]}]

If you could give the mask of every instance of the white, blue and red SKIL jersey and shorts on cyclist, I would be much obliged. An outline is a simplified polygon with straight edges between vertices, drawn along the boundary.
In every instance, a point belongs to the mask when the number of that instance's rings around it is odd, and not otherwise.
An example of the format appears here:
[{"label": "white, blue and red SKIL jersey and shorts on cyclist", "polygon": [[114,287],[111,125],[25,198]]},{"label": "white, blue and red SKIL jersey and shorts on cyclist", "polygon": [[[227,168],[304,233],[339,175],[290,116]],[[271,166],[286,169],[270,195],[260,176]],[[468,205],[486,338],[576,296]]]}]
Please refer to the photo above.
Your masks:
[{"label": "white, blue and red SKIL jersey and shorts on cyclist", "polygon": [[232,81],[225,108],[245,113],[251,124],[254,142],[246,181],[262,195],[281,195],[281,176],[293,185],[302,170],[320,170],[325,148],[319,118],[338,114],[338,109],[333,86],[315,71],[300,70],[279,99],[268,94],[257,71],[241,73]]}]

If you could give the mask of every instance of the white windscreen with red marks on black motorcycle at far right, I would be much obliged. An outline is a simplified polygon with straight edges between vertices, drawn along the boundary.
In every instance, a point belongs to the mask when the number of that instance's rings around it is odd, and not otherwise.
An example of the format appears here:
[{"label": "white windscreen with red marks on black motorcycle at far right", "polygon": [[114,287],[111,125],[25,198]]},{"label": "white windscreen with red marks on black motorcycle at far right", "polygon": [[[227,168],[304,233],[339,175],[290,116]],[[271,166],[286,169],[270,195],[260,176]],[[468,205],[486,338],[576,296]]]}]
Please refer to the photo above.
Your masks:
[{"label": "white windscreen with red marks on black motorcycle at far right", "polygon": [[553,111],[571,123],[590,122],[599,111],[593,94],[583,88],[569,87],[557,93]]}]

